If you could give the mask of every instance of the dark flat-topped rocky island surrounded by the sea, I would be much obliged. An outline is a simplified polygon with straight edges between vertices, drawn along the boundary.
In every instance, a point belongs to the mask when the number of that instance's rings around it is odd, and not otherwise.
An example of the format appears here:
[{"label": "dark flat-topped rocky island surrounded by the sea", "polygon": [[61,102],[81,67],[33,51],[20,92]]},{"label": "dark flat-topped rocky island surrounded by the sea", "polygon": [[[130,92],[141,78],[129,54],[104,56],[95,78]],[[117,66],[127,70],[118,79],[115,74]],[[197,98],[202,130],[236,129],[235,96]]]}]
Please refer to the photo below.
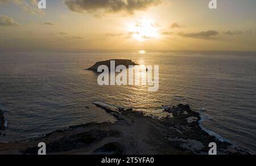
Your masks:
[{"label": "dark flat-topped rocky island surrounded by the sea", "polygon": [[124,65],[124,66],[126,66],[126,68],[128,68],[129,66],[138,65],[137,63],[134,63],[133,61],[131,61],[129,59],[110,59],[108,61],[96,62],[95,65],[93,65],[92,67],[90,67],[87,70],[92,70],[92,71],[97,72],[98,66],[101,66],[101,65],[106,65],[110,69],[110,61],[115,61],[115,67],[117,67],[119,65]]}]

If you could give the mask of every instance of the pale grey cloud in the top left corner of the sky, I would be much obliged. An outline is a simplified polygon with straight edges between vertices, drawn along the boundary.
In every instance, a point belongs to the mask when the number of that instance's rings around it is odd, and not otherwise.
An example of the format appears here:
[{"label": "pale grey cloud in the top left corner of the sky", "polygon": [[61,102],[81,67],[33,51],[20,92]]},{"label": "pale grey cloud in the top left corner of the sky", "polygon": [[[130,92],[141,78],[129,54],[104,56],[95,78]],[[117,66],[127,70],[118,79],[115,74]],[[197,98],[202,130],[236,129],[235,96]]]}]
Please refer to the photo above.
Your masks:
[{"label": "pale grey cloud in the top left corner of the sky", "polygon": [[44,11],[38,8],[36,0],[0,0],[0,4],[8,5],[15,4],[21,7],[24,11],[30,12],[31,14],[44,15]]}]

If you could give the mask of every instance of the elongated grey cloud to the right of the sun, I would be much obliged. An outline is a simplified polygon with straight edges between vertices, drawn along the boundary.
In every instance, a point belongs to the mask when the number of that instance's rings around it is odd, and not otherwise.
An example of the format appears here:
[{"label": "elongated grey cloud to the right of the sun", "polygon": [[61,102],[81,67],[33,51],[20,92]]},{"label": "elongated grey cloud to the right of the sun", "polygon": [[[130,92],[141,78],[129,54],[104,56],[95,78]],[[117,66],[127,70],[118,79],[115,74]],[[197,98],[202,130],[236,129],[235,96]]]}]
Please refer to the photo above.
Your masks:
[{"label": "elongated grey cloud to the right of the sun", "polygon": [[212,39],[210,37],[218,35],[217,31],[209,30],[209,31],[201,31],[197,33],[178,33],[179,36],[182,37],[191,37],[196,39]]}]

